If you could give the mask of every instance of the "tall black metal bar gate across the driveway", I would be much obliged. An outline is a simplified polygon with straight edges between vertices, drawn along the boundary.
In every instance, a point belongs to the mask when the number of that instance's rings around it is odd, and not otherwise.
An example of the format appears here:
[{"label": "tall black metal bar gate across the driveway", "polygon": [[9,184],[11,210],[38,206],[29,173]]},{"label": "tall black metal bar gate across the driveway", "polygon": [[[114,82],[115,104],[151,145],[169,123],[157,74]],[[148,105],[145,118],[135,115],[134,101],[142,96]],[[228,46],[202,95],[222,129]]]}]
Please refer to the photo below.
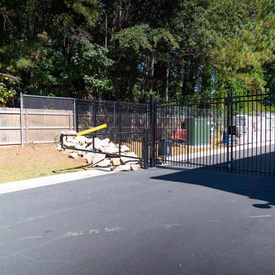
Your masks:
[{"label": "tall black metal bar gate across the driveway", "polygon": [[275,176],[274,93],[150,97],[150,166]]}]

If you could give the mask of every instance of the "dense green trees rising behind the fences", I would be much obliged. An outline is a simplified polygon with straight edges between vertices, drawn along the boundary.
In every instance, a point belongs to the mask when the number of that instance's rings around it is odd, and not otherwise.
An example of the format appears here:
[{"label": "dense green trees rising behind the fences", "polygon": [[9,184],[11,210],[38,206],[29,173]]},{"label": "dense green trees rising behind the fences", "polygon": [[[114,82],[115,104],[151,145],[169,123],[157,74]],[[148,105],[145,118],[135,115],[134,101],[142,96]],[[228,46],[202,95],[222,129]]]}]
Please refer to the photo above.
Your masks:
[{"label": "dense green trees rising behind the fences", "polygon": [[2,0],[0,105],[274,90],[271,0]]}]

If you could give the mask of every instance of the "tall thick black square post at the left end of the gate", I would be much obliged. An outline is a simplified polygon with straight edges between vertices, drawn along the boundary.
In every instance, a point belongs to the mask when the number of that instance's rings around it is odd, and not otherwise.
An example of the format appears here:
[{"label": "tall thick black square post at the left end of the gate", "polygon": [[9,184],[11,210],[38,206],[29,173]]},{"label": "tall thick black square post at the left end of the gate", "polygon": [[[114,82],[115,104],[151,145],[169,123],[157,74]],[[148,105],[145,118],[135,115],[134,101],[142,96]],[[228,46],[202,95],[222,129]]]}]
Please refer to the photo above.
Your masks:
[{"label": "tall thick black square post at the left end of the gate", "polygon": [[154,94],[150,95],[150,106],[149,106],[149,145],[150,145],[150,167],[155,167],[155,131],[156,131],[156,125],[155,125],[155,108],[156,108],[156,97]]}]

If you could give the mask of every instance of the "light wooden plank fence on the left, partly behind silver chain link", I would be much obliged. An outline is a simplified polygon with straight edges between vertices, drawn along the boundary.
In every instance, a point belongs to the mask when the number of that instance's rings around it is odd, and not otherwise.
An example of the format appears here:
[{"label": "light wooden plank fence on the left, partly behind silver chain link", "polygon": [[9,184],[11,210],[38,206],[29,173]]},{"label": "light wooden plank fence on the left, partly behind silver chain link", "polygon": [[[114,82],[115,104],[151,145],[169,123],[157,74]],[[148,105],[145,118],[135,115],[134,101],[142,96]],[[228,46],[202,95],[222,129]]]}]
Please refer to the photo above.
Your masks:
[{"label": "light wooden plank fence on the left, partly behind silver chain link", "polygon": [[[20,108],[0,108],[0,146],[21,144]],[[24,144],[58,142],[60,132],[74,129],[68,110],[24,109]]]}]

